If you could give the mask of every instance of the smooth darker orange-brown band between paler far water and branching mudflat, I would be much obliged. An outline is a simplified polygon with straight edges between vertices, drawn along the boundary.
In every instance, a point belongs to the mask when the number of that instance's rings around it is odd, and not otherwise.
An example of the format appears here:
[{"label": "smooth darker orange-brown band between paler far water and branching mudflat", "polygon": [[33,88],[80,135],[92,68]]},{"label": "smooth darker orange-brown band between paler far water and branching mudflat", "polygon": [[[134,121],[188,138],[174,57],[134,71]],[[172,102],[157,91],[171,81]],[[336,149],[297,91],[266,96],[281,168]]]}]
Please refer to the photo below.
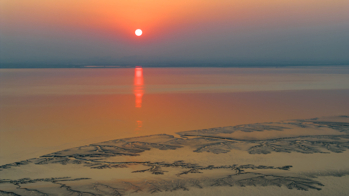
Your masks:
[{"label": "smooth darker orange-brown band between paler far water and branching mudflat", "polygon": [[349,111],[345,89],[144,94],[141,108],[133,94],[0,99],[0,165],[111,139]]}]

